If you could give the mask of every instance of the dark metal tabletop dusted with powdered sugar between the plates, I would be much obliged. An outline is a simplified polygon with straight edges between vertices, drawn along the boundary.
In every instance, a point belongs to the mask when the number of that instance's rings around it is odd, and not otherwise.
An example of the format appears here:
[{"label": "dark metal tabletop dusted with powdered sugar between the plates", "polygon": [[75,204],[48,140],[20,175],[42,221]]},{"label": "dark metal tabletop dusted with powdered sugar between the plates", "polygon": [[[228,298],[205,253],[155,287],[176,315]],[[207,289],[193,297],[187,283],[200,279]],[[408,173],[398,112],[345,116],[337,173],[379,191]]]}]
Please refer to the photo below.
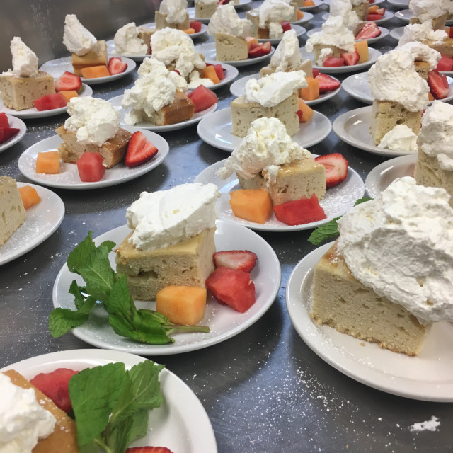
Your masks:
[{"label": "dark metal tabletop dusted with powdered sugar between the plates", "polygon": [[[388,3],[383,6],[397,10]],[[311,11],[314,19],[304,27],[319,27],[326,11],[325,5]],[[402,25],[394,18],[382,26]],[[195,44],[205,40],[199,38]],[[305,40],[306,35],[301,45]],[[386,37],[373,47],[386,52],[395,45]],[[239,76],[259,69],[259,64],[241,67]],[[134,71],[112,84],[92,86],[93,96],[118,96],[136,76]],[[227,107],[232,98],[229,86],[216,93],[219,108]],[[333,121],[340,113],[362,106],[340,91],[315,109]],[[54,134],[66,117],[26,120],[23,140],[0,154],[0,174],[27,182],[18,170],[18,157],[30,145]],[[170,153],[164,164],[142,177],[98,190],[52,189],[66,207],[61,226],[40,246],[0,268],[0,367],[47,352],[91,348],[71,333],[52,338],[47,329],[52,285],[69,251],[90,230],[98,236],[125,224],[125,210],[142,190],[193,181],[204,168],[228,156],[202,142],[196,126],[162,135],[171,145]],[[384,161],[341,142],[333,132],[310,151],[342,153],[364,180]],[[154,359],[175,372],[200,398],[221,453],[452,451],[451,404],[414,401],[360,384],[321,360],[295,331],[285,306],[285,289],[294,266],[315,248],[307,241],[309,233],[258,232],[277,253],[282,285],[273,305],[253,326],[209,348]],[[440,419],[435,432],[411,432],[413,423],[430,420],[432,415]]]}]

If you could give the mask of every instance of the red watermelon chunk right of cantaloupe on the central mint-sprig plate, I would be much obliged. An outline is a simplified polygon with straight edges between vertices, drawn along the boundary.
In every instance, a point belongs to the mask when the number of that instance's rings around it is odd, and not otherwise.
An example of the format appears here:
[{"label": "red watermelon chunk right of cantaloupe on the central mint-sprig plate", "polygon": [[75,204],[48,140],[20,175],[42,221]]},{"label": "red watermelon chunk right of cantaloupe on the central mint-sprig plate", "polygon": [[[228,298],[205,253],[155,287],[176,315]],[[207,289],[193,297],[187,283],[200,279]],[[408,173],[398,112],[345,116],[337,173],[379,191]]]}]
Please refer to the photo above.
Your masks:
[{"label": "red watermelon chunk right of cantaloupe on the central mint-sprig plate", "polygon": [[244,313],[255,303],[255,285],[243,270],[220,267],[207,277],[207,289],[217,302]]}]

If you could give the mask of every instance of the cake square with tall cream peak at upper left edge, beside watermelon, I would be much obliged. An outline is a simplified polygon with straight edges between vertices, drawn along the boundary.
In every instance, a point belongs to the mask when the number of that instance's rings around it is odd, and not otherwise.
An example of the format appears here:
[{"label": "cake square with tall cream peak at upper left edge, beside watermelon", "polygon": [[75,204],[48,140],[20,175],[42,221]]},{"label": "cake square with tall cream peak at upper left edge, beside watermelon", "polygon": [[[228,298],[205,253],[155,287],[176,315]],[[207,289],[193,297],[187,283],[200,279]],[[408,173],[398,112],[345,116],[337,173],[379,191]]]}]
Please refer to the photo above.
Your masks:
[{"label": "cake square with tall cream peak at upper left edge, beside watermelon", "polygon": [[0,74],[0,97],[7,108],[25,110],[33,101],[55,93],[54,79],[38,71],[38,57],[18,36],[11,40],[13,69]]}]

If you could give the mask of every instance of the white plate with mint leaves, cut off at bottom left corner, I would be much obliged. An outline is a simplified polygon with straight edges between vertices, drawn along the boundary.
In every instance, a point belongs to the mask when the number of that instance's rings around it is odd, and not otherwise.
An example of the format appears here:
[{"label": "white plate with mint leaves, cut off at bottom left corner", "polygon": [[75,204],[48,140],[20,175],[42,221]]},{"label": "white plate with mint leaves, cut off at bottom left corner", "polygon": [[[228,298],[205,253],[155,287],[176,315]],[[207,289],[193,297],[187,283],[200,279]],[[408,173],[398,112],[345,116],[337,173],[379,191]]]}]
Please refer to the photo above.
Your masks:
[{"label": "white plate with mint leaves, cut off at bottom left corner", "polygon": [[[98,349],[79,349],[52,352],[8,365],[6,369],[16,369],[26,379],[40,373],[52,372],[57,368],[81,371],[85,368],[122,362],[126,369],[144,362],[143,357]],[[159,373],[164,402],[161,407],[149,412],[149,430],[146,437],[133,445],[165,446],[173,452],[217,452],[217,443],[210,419],[202,403],[176,374],[164,368]]]}]

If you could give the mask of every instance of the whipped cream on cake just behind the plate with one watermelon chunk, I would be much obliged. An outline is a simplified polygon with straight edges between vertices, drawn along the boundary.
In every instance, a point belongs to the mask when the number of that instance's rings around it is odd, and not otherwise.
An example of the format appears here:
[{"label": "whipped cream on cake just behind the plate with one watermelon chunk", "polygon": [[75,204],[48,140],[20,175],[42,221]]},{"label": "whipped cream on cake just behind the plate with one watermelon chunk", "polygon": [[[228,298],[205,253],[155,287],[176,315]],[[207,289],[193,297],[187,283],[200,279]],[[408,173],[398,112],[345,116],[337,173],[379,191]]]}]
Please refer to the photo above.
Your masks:
[{"label": "whipped cream on cake just behind the plate with one watermelon chunk", "polygon": [[164,28],[151,35],[153,57],[166,66],[175,64],[175,69],[184,78],[194,69],[204,69],[205,62],[195,50],[193,40],[187,33],[176,28]]}]

